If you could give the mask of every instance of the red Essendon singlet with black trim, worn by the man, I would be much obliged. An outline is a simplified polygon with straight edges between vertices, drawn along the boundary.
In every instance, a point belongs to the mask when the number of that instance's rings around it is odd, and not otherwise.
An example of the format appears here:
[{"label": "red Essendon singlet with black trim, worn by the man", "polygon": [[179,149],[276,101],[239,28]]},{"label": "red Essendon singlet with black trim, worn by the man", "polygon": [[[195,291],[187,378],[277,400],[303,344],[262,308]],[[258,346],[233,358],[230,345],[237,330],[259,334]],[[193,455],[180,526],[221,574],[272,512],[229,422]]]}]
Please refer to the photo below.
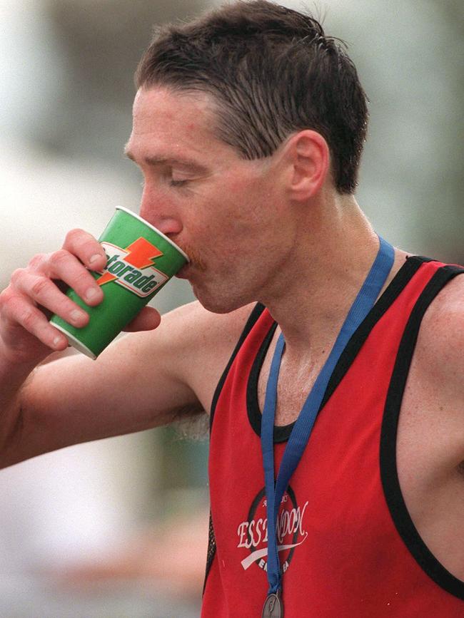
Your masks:
[{"label": "red Essendon singlet with black trim, worn by the man", "polygon": [[[395,461],[420,321],[462,272],[409,258],[343,351],[278,516],[286,618],[464,616],[464,582],[418,535]],[[257,383],[275,329],[257,305],[213,399],[203,618],[260,618],[268,590]],[[275,428],[276,467],[290,431]]]}]

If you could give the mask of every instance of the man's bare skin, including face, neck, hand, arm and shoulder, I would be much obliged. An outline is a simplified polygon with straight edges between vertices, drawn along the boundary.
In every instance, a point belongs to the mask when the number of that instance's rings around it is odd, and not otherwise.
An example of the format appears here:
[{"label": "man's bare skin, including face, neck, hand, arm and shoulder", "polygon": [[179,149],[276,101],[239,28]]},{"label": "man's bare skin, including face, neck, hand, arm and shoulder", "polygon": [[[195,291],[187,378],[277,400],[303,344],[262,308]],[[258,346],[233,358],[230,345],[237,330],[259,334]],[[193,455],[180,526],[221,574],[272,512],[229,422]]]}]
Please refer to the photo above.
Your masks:
[{"label": "man's bare skin, including face, neck, hand, arm and shoulder", "polygon": [[[353,195],[335,190],[321,135],[294,133],[271,157],[248,161],[216,139],[214,120],[207,96],[141,90],[126,146],[144,178],[141,215],[192,258],[180,276],[191,283],[198,302],[163,316],[160,326],[156,311],[147,309],[131,325],[146,332],[123,337],[96,361],[57,360],[27,379],[52,350],[66,347],[43,311],[71,319],[76,310],[52,280],[64,279],[83,297],[93,289],[91,303],[98,304],[100,292],[84,265],[104,266],[101,247],[74,230],[58,252],[16,271],[0,295],[2,465],[141,431],[179,413],[209,411],[256,301],[266,304],[286,337],[276,418],[278,424],[294,420],[288,410],[301,408],[373,262],[378,239]],[[395,250],[386,284],[406,255]],[[420,535],[461,580],[463,288],[463,277],[456,277],[425,314],[403,398],[397,453],[403,495]],[[87,318],[73,319],[84,325]],[[261,408],[274,345],[259,377]]]}]

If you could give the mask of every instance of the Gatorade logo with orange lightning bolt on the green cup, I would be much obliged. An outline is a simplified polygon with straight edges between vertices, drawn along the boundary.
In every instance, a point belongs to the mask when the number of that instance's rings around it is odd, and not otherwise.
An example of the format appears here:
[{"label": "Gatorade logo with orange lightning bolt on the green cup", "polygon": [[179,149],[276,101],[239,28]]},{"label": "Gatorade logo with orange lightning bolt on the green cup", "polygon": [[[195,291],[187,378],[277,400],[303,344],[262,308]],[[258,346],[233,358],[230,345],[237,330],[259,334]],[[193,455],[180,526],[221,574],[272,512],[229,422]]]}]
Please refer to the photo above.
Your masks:
[{"label": "Gatorade logo with orange lightning bolt on the green cup", "polygon": [[101,246],[108,262],[101,271],[101,277],[96,280],[99,285],[114,281],[143,298],[169,279],[153,267],[154,259],[163,255],[163,252],[145,238],[138,238],[126,249],[111,242],[102,242]]}]

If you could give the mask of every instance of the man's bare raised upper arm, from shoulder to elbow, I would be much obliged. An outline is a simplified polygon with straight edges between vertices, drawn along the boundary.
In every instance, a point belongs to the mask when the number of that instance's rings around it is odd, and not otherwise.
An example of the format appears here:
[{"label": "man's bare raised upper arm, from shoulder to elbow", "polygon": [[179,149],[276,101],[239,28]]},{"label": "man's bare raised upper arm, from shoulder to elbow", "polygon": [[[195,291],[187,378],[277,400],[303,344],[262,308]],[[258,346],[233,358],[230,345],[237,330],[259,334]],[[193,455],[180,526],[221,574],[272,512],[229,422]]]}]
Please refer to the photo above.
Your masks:
[{"label": "man's bare raised upper arm, from shoulder to elbow", "polygon": [[121,337],[96,361],[79,354],[39,367],[21,398],[14,460],[208,410],[250,310],[212,314],[193,302],[154,331]]}]

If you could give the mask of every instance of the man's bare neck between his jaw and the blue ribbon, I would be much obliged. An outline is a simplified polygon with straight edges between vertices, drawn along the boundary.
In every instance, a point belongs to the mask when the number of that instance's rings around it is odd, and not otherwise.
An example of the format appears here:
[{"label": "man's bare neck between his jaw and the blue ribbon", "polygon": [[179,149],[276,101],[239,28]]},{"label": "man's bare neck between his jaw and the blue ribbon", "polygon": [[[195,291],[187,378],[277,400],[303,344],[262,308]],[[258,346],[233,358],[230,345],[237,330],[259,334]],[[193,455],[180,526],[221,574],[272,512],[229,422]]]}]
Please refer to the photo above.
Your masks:
[{"label": "man's bare neck between his jaw and the blue ribbon", "polygon": [[[331,347],[378,252],[378,237],[353,196],[331,206],[298,226],[286,285],[262,299],[283,332],[287,356],[301,359]],[[405,256],[395,251],[385,287]]]}]

